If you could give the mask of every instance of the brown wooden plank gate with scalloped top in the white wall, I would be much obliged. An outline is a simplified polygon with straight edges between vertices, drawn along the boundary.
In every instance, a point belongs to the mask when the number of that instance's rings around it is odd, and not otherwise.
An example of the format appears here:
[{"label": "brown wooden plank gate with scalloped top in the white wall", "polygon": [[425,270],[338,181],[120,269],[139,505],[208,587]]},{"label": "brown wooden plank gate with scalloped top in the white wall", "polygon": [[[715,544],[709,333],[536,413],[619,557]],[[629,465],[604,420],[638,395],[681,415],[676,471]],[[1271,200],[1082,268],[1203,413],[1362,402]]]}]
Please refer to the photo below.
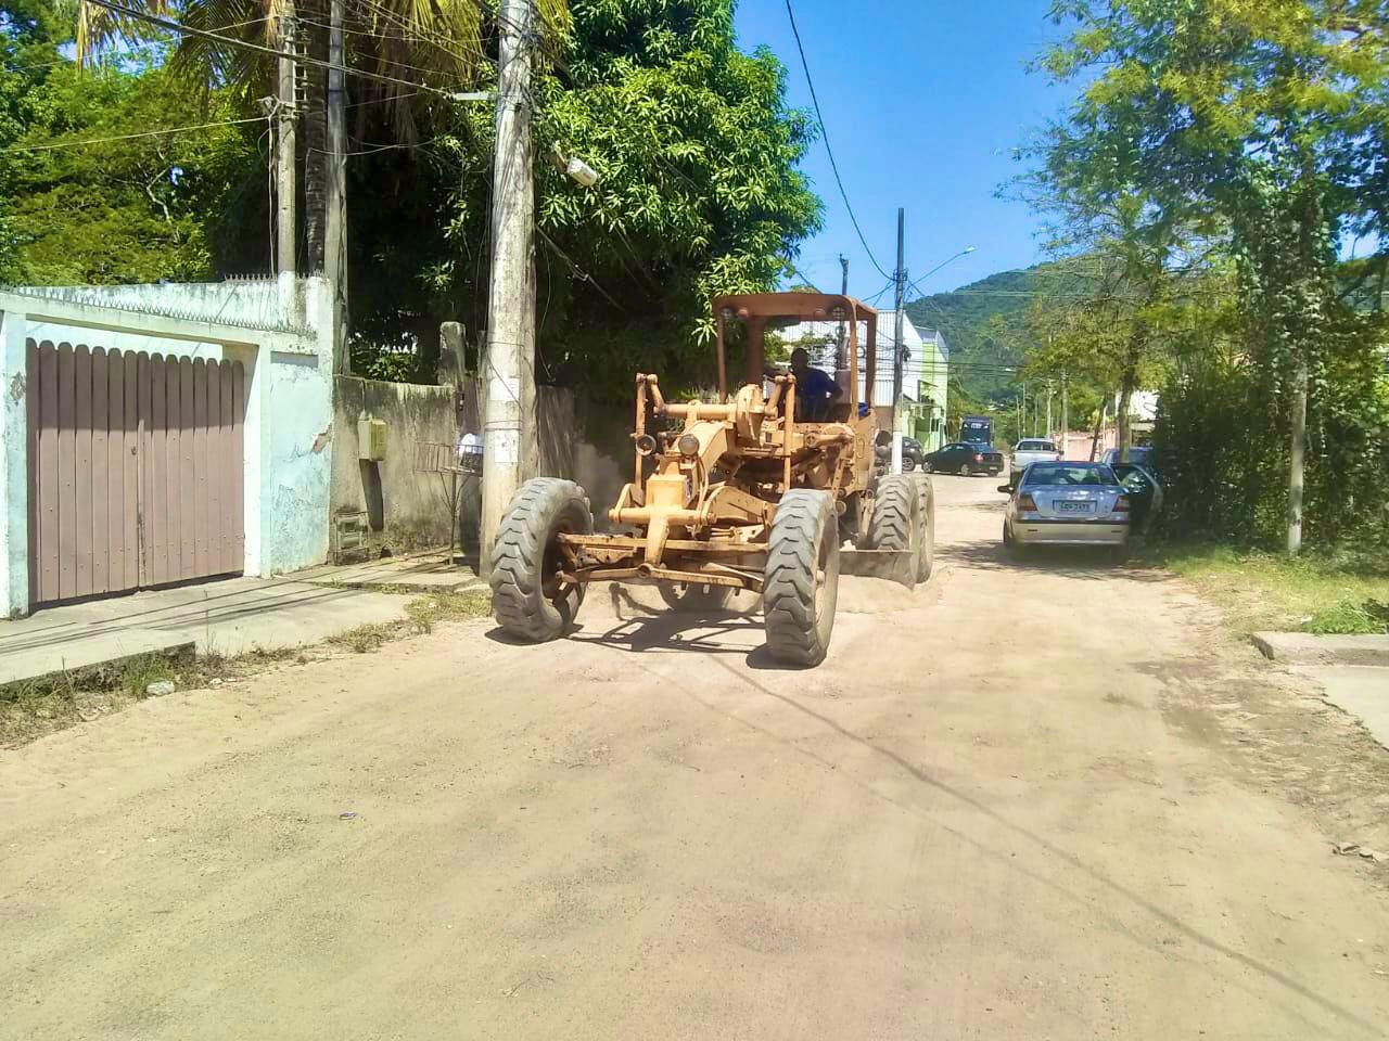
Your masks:
[{"label": "brown wooden plank gate with scalloped top in the white wall", "polygon": [[242,570],[240,362],[28,341],[35,604]]}]

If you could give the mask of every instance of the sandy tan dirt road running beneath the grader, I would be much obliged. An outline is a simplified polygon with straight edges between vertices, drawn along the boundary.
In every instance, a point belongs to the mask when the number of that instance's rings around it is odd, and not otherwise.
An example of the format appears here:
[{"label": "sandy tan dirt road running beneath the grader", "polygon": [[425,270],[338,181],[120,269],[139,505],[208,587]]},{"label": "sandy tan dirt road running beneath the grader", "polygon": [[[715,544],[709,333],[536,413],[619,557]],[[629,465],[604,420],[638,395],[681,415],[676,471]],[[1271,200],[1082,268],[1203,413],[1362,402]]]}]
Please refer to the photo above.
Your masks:
[{"label": "sandy tan dirt road running beneath the grader", "polygon": [[597,597],[0,754],[0,1037],[1385,1035],[1383,752],[993,484],[813,672]]}]

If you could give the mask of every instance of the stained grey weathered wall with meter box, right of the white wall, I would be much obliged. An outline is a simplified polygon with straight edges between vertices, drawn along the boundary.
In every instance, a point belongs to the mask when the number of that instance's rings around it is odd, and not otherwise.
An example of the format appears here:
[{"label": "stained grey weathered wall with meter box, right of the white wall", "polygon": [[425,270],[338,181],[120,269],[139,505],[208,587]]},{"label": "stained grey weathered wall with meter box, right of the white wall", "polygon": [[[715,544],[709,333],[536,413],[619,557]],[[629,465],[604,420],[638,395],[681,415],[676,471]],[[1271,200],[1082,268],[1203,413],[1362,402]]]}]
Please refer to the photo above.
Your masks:
[{"label": "stained grey weathered wall with meter box, right of the white wall", "polygon": [[[386,423],[386,458],[360,458],[357,419]],[[332,508],[367,511],[382,540],[408,545],[449,541],[447,475],[415,471],[415,447],[451,446],[457,419],[451,387],[333,378]],[[476,497],[476,479],[461,479]]]}]

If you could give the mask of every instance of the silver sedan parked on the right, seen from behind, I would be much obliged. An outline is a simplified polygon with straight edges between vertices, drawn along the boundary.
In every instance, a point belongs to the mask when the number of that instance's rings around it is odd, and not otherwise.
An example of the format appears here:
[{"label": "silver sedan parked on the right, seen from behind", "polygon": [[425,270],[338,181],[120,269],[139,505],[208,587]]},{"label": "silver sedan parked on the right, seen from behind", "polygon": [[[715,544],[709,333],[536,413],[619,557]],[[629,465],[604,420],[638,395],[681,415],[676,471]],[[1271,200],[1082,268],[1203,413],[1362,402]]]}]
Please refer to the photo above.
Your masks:
[{"label": "silver sedan parked on the right, seen from behind", "polygon": [[1003,544],[1014,557],[1033,545],[1096,545],[1128,555],[1132,498],[1103,462],[1033,462],[1004,484]]}]

